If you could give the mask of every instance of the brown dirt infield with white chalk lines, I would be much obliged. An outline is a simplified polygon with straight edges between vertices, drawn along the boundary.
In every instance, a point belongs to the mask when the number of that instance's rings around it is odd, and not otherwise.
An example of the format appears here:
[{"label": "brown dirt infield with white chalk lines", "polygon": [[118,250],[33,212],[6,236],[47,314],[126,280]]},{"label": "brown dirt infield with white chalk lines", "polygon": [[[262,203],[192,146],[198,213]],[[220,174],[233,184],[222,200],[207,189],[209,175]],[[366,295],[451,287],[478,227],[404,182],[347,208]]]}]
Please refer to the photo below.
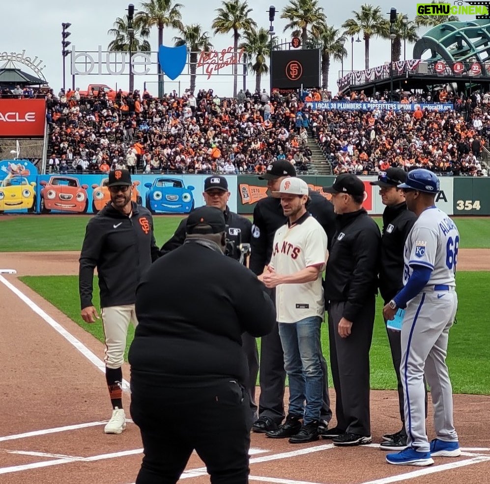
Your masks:
[{"label": "brown dirt infield with white chalk lines", "polygon": [[[461,249],[458,269],[490,270],[488,250]],[[73,275],[78,252],[3,253],[0,268],[17,275]],[[75,295],[74,295],[75,296]],[[2,383],[0,482],[2,484],[130,484],[141,462],[141,439],[129,423],[121,435],[102,431],[110,415],[102,358],[104,347],[56,307],[0,274]],[[123,375],[129,380],[128,365]],[[335,396],[332,392],[332,407]],[[129,418],[129,395],[124,406]],[[488,483],[490,399],[456,395],[455,422],[463,455],[436,458],[427,468],[390,466],[378,448],[381,435],[400,427],[394,391],[373,391],[373,445],[333,448],[330,441],[290,445],[252,434],[250,482],[282,484]],[[431,415],[428,429],[432,435]],[[175,415],[183,425],[192,416]],[[335,425],[334,422],[332,422]],[[197,456],[181,481],[208,483]]]}]

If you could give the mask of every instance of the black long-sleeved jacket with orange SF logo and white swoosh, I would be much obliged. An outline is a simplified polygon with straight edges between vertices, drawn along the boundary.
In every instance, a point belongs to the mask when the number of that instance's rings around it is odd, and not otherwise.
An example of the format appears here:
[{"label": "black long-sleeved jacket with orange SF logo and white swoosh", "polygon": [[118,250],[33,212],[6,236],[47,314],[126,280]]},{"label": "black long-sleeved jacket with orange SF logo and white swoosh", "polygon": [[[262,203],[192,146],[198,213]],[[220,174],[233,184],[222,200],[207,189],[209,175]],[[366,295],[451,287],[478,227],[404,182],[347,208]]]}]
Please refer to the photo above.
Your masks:
[{"label": "black long-sleeved jacket with orange SF logo and white swoosh", "polygon": [[134,304],[136,287],[158,258],[149,210],[133,204],[131,218],[108,203],[86,226],[80,254],[82,309],[92,306],[93,271],[97,268],[101,307]]}]

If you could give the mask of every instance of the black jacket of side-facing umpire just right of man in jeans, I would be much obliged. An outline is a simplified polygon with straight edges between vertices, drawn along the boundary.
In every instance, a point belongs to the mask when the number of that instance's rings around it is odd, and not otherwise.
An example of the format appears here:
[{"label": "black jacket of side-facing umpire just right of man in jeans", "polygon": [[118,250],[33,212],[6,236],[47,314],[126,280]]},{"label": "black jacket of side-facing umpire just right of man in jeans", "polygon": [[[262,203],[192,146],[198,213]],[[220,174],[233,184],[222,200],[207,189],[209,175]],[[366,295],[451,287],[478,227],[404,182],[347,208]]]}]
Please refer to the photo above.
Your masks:
[{"label": "black jacket of side-facing umpire just right of man in jeans", "polygon": [[355,321],[377,293],[381,234],[364,210],[337,215],[325,269],[325,301],[345,301],[343,317]]}]

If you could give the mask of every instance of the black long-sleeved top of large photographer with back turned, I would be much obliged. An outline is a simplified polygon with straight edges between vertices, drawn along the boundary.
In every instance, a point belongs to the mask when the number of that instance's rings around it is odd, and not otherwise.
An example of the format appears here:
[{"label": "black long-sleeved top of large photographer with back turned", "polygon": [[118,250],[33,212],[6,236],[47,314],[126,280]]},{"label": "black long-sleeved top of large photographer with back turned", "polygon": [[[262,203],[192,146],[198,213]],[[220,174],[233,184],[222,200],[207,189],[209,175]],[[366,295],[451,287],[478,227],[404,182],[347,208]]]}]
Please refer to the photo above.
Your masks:
[{"label": "black long-sleeved top of large photographer with back turned", "polygon": [[264,336],[276,321],[257,276],[201,241],[158,259],[137,289],[129,363],[139,384],[194,387],[231,377],[245,386],[241,335]]}]

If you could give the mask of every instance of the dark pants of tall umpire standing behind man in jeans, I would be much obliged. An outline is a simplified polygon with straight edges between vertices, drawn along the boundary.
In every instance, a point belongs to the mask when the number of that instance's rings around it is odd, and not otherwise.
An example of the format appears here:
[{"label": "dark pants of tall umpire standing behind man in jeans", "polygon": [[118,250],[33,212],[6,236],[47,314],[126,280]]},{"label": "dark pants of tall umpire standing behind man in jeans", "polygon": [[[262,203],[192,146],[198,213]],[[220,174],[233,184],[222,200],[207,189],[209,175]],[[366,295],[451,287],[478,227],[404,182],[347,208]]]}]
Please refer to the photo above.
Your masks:
[{"label": "dark pants of tall umpire standing behind man in jeans", "polygon": [[[320,418],[330,422],[332,410],[330,409],[330,397],[328,395],[328,370],[323,354],[320,364],[324,378],[323,405]],[[279,424],[284,419],[286,372],[284,371],[284,352],[277,323],[267,336],[262,336],[259,381],[259,417],[269,417]]]}]

